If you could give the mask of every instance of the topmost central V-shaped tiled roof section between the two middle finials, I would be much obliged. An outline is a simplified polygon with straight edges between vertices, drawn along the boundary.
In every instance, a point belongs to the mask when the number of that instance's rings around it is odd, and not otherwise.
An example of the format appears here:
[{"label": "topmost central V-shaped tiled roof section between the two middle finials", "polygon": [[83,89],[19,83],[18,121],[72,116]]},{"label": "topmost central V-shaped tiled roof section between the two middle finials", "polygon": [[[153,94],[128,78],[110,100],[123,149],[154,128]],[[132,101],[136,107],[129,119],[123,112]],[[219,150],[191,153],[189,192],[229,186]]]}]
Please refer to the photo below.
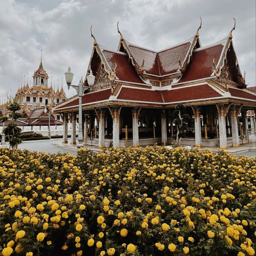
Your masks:
[{"label": "topmost central V-shaped tiled roof section between the two middle finials", "polygon": [[185,59],[190,42],[178,46],[155,52],[130,44],[128,47],[132,56],[141,65],[144,60],[144,70],[148,74],[162,76],[174,73],[179,68],[179,58],[181,62]]}]

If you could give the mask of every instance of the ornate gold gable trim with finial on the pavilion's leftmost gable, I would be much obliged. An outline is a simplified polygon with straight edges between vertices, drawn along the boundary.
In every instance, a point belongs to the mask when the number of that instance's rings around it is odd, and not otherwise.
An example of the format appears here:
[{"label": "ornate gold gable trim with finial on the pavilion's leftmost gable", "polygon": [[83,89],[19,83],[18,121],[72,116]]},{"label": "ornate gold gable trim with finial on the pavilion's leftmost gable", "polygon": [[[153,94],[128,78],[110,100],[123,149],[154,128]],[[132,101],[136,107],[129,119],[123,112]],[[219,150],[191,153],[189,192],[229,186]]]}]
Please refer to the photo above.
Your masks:
[{"label": "ornate gold gable trim with finial on the pavilion's leftmost gable", "polygon": [[[114,82],[114,80],[116,79],[116,66],[115,66],[114,70],[112,70],[110,68],[110,66],[108,65],[108,62],[106,61],[106,58],[104,57],[104,54],[102,53],[102,50],[100,49],[100,46],[99,46],[96,38],[92,34],[92,26],[90,28],[90,31],[91,31],[91,36],[94,38],[94,42],[93,42],[92,54],[91,54],[91,58],[90,58],[90,62],[89,62],[89,67],[88,67],[88,70],[87,70],[87,73],[86,73],[86,77],[88,76],[88,74],[90,72],[92,57],[93,57],[94,51],[96,51],[96,53],[100,57],[100,61],[101,61],[101,64],[103,65],[103,67],[104,67],[104,71],[108,74],[109,80],[111,82]],[[86,80],[87,80],[87,78],[85,78],[84,83],[86,82]]]}]

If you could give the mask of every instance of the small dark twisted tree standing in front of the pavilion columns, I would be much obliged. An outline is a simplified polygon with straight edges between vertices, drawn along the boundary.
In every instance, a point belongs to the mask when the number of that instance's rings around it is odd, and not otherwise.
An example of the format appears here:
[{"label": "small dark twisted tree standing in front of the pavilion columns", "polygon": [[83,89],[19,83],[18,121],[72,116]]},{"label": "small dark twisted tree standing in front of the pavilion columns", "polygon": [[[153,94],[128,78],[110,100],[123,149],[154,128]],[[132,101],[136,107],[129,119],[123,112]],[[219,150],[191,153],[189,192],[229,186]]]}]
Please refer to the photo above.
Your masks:
[{"label": "small dark twisted tree standing in front of the pavilion columns", "polygon": [[184,137],[185,131],[188,128],[188,120],[190,120],[190,116],[186,114],[186,107],[183,104],[178,104],[175,107],[174,117],[173,122],[177,127],[176,144],[181,146],[180,140]]}]

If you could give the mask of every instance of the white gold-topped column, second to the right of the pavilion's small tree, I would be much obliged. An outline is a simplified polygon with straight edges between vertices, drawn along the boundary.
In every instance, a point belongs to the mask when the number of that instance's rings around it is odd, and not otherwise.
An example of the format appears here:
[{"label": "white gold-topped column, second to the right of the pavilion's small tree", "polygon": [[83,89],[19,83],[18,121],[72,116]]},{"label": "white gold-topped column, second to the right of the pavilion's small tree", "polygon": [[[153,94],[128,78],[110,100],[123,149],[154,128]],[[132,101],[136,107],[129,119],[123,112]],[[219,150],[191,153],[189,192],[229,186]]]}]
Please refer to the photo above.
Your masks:
[{"label": "white gold-topped column, second to the right of the pavilion's small tree", "polygon": [[226,134],[226,115],[228,113],[229,106],[217,106],[218,118],[219,118],[219,133],[220,133],[220,148],[228,148],[227,134]]}]

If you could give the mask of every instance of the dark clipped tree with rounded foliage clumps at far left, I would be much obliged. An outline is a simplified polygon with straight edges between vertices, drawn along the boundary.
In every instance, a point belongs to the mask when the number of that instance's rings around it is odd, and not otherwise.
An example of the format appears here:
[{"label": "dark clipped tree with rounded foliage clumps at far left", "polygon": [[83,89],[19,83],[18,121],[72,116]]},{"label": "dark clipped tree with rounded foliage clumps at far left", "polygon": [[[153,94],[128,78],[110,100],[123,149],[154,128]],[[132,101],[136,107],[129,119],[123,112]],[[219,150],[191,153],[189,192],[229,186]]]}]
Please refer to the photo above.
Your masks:
[{"label": "dark clipped tree with rounded foliage clumps at far left", "polygon": [[4,128],[3,132],[8,137],[10,147],[12,147],[12,149],[16,149],[18,144],[22,142],[20,139],[21,129],[16,124],[16,120],[20,118],[20,114],[17,113],[17,111],[20,110],[20,104],[14,100],[9,103],[7,109],[11,111],[12,119],[8,126]]}]

